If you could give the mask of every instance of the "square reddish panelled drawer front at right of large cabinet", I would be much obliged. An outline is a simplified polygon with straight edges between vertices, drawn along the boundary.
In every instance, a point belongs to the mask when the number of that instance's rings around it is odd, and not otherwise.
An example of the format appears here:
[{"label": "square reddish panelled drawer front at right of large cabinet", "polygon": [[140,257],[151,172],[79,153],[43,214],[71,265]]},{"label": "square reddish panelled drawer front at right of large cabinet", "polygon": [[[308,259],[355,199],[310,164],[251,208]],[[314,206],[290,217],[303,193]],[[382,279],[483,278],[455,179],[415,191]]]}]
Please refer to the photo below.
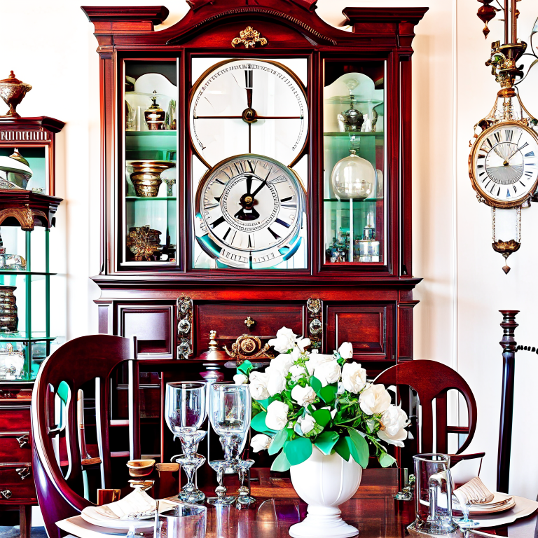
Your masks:
[{"label": "square reddish panelled drawer front at right of large cabinet", "polygon": [[394,305],[329,305],[327,352],[343,342],[353,345],[353,359],[394,359]]}]

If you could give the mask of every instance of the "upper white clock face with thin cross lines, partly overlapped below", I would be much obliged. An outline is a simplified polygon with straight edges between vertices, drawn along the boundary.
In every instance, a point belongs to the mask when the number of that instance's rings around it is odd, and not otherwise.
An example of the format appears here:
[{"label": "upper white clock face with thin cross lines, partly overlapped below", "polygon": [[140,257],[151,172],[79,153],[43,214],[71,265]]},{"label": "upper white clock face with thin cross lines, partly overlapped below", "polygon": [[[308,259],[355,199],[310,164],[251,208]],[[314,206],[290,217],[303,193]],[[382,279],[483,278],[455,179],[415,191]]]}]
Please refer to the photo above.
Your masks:
[{"label": "upper white clock face with thin cross lines, partly overlapped below", "polygon": [[193,148],[208,167],[242,153],[291,166],[308,136],[308,103],[299,79],[276,62],[225,60],[191,92]]}]

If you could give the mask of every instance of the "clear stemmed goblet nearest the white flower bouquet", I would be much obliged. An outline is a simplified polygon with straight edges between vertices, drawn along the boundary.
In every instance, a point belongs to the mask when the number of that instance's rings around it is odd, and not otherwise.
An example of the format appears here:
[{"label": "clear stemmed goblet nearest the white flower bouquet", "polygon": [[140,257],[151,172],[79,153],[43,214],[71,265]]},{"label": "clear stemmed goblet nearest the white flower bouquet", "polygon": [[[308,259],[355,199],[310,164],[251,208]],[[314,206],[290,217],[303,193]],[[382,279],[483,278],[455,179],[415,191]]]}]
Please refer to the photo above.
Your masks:
[{"label": "clear stemmed goblet nearest the white flower bouquet", "polygon": [[250,427],[250,390],[248,385],[214,383],[209,387],[209,421],[220,437],[224,460],[209,462],[217,471],[219,482],[216,497],[207,499],[209,504],[232,504],[235,497],[226,496],[222,484],[224,473],[235,473],[239,469],[237,453],[244,443]]}]

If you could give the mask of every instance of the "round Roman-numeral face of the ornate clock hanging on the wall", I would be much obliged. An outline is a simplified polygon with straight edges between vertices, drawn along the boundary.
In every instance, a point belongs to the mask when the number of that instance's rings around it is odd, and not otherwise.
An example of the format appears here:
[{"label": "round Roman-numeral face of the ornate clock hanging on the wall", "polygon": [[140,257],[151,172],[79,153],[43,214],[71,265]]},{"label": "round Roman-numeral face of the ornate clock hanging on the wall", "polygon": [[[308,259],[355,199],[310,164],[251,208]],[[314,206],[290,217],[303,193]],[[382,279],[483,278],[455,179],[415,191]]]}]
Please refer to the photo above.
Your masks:
[{"label": "round Roman-numeral face of the ornate clock hanging on the wall", "polygon": [[538,135],[515,121],[492,125],[474,143],[469,173],[488,205],[522,204],[538,182]]}]

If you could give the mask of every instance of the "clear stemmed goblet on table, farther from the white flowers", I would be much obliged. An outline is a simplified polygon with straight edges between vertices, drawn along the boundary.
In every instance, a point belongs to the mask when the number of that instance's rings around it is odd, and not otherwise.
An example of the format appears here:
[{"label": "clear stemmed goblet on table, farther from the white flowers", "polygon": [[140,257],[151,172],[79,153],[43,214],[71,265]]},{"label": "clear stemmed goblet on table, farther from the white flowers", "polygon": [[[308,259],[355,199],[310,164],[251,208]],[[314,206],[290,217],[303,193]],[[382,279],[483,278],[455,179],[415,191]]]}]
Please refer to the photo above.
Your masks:
[{"label": "clear stemmed goblet on table, farther from the white flowers", "polygon": [[179,498],[185,502],[202,502],[205,494],[193,483],[196,470],[205,462],[205,457],[197,454],[198,443],[205,437],[200,427],[207,416],[206,387],[204,382],[167,383],[165,399],[165,420],[174,439],[179,437],[183,453],[172,457],[172,462],[181,465],[187,476],[187,483],[181,488]]}]

